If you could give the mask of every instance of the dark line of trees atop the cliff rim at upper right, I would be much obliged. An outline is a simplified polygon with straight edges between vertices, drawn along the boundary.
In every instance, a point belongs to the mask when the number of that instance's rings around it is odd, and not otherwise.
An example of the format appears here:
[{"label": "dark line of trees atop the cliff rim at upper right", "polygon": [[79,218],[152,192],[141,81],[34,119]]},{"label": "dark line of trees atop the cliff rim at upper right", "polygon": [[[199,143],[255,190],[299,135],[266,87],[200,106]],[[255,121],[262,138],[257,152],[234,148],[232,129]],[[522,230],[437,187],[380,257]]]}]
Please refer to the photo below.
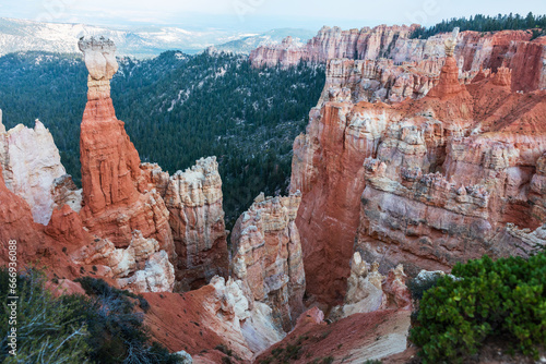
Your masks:
[{"label": "dark line of trees atop the cliff rim at upper right", "polygon": [[461,32],[496,32],[538,28],[533,32],[533,37],[537,37],[543,34],[541,29],[546,28],[546,15],[533,15],[533,13],[530,12],[526,16],[510,13],[508,15],[498,14],[497,16],[477,14],[470,19],[464,16],[453,17],[430,27],[420,26],[411,35],[411,38],[426,39],[439,33],[451,32],[455,26],[460,27]]}]

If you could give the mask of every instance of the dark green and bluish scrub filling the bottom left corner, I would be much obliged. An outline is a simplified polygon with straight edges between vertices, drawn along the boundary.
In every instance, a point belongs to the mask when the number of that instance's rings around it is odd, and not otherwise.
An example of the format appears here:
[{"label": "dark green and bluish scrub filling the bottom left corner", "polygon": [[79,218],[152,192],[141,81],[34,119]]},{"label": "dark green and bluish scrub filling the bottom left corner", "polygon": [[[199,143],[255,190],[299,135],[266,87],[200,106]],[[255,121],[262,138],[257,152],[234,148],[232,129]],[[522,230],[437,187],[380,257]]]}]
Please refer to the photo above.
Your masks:
[{"label": "dark green and bluish scrub filling the bottom left corner", "polygon": [[45,276],[29,270],[19,276],[17,356],[9,355],[7,306],[9,272],[0,270],[2,363],[182,363],[157,342],[151,342],[143,315],[147,302],[133,293],[109,287],[100,279],[80,279],[90,298],[55,298],[45,288]]}]

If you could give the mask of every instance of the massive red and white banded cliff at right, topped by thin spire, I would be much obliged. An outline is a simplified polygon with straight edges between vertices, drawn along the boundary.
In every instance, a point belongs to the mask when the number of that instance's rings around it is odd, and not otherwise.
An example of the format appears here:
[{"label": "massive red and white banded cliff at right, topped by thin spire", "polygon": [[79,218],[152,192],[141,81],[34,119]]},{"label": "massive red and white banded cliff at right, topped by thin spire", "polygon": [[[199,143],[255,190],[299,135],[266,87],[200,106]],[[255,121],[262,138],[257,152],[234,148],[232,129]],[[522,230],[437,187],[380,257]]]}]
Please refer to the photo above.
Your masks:
[{"label": "massive red and white banded cliff at right, topped by thin spire", "polygon": [[296,225],[308,293],[341,302],[355,250],[383,262],[383,272],[403,263],[411,275],[485,253],[525,254],[506,223],[533,230],[544,216],[546,94],[513,92],[514,73],[482,72],[464,86],[449,56],[417,101],[333,95],[311,111],[292,177],[302,192]]}]

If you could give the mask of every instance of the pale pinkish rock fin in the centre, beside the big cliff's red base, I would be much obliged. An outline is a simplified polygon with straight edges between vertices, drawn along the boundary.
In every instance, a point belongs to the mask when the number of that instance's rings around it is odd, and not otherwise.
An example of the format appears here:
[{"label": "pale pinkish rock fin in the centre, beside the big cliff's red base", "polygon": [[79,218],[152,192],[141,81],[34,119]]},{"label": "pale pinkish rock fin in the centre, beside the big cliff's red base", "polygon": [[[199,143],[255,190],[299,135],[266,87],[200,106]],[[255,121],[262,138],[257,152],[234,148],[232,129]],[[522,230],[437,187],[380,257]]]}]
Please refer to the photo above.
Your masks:
[{"label": "pale pinkish rock fin in the centre, beside the big cliff's red base", "polygon": [[304,311],[306,288],[296,214],[301,194],[260,194],[237,220],[232,233],[232,274],[242,281],[249,300],[268,304],[289,331]]}]

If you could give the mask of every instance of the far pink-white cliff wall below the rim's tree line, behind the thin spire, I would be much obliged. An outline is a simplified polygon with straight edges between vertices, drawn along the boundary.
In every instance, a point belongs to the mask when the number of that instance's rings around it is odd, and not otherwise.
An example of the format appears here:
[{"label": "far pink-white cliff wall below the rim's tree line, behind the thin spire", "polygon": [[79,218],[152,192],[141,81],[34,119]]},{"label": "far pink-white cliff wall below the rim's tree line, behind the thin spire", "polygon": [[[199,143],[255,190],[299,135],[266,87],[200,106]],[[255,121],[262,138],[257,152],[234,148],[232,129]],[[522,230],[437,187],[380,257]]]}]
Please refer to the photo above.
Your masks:
[{"label": "far pink-white cliff wall below the rim's tree line, behind the thin spire", "polygon": [[[327,83],[321,101],[329,96],[354,102],[399,102],[424,97],[439,80],[443,43],[448,34],[410,39],[414,26],[378,26],[372,29],[322,28],[305,46],[262,46],[250,54],[252,65],[288,68],[300,61],[327,63]],[[462,32],[454,59],[459,77],[466,83],[480,69],[507,66],[514,72],[512,90],[546,87],[546,37],[530,41],[530,31],[495,33]]]}]

